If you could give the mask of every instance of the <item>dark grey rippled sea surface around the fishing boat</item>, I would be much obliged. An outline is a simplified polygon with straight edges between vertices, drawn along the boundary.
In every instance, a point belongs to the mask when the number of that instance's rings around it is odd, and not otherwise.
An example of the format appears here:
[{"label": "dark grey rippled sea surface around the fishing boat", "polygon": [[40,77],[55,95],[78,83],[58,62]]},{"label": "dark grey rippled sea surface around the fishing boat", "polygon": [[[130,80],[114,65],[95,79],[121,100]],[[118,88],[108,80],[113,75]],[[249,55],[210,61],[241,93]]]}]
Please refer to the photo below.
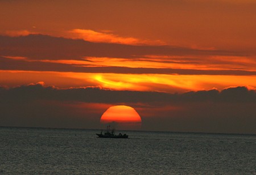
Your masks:
[{"label": "dark grey rippled sea surface around the fishing boat", "polygon": [[0,127],[0,174],[256,174],[256,135],[99,132]]}]

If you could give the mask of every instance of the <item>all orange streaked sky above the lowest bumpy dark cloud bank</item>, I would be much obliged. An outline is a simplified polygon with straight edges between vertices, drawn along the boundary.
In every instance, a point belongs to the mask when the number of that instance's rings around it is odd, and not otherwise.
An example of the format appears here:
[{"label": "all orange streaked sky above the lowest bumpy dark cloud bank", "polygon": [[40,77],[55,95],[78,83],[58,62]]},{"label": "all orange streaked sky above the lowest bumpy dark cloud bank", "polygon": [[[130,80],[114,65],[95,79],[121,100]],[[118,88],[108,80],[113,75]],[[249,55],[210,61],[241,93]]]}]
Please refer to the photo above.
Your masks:
[{"label": "all orange streaked sky above the lowest bumpy dark cloud bank", "polygon": [[255,21],[253,0],[0,1],[0,86],[255,89]]}]

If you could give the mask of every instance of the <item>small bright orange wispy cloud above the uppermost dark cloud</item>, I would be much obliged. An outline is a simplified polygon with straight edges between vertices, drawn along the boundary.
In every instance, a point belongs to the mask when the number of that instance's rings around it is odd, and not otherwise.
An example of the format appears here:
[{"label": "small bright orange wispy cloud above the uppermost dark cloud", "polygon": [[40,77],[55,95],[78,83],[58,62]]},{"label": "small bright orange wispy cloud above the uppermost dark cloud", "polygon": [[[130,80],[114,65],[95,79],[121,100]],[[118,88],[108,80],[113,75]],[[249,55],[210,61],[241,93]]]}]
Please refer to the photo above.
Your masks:
[{"label": "small bright orange wispy cloud above the uppermost dark cloud", "polygon": [[162,41],[148,41],[148,40],[139,40],[134,37],[121,37],[114,35],[106,31],[105,33],[96,32],[89,29],[73,29],[69,31],[69,34],[73,39],[83,39],[90,42],[108,42],[108,43],[117,43],[117,44],[128,44],[128,45],[163,45]]}]

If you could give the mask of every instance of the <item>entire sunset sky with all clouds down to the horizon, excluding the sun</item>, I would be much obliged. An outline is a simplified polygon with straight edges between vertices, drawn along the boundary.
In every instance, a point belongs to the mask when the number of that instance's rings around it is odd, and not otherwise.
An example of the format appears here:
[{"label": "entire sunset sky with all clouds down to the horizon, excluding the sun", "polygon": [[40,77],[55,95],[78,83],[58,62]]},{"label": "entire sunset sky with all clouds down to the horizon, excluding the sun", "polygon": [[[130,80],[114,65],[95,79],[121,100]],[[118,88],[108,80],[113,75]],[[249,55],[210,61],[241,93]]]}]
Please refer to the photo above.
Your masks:
[{"label": "entire sunset sky with all clouds down to the horizon, excluding the sun", "polygon": [[0,126],[256,134],[256,1],[0,1]]}]

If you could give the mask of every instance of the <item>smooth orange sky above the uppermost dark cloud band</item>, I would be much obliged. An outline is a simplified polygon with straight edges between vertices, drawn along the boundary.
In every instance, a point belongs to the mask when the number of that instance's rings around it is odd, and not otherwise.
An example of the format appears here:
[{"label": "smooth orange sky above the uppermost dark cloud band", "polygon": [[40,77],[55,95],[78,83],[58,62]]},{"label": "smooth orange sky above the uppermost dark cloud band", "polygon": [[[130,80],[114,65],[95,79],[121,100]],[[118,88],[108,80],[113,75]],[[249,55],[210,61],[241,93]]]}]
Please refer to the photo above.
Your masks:
[{"label": "smooth orange sky above the uppermost dark cloud band", "polygon": [[255,7],[253,0],[1,1],[0,31],[74,37],[94,31],[119,39],[253,52]]}]

